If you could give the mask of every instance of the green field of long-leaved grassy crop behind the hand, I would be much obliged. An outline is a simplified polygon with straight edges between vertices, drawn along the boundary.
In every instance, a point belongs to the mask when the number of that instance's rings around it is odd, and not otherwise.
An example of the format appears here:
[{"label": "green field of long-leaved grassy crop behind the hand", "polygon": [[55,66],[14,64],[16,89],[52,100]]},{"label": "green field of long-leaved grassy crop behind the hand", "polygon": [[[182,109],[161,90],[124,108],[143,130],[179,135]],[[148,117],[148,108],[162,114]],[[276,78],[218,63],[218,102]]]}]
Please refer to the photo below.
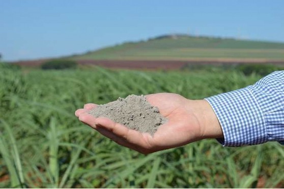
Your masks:
[{"label": "green field of long-leaved grassy crop behind the hand", "polygon": [[86,103],[131,93],[201,99],[259,79],[216,69],[23,74],[0,66],[0,187],[255,187],[259,180],[261,187],[283,187],[284,149],[278,143],[229,148],[203,140],[145,156],[74,116]]}]

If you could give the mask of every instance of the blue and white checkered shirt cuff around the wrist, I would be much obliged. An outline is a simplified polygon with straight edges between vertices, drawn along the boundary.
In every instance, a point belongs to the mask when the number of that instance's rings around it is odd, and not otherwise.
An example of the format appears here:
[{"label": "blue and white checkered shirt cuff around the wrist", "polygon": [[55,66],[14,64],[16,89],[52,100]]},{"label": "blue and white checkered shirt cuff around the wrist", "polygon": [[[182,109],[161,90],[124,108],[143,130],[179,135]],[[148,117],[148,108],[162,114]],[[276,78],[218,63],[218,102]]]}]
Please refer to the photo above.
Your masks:
[{"label": "blue and white checkered shirt cuff around the wrist", "polygon": [[265,117],[248,87],[205,99],[214,110],[224,138],[223,146],[255,145],[267,142]]}]

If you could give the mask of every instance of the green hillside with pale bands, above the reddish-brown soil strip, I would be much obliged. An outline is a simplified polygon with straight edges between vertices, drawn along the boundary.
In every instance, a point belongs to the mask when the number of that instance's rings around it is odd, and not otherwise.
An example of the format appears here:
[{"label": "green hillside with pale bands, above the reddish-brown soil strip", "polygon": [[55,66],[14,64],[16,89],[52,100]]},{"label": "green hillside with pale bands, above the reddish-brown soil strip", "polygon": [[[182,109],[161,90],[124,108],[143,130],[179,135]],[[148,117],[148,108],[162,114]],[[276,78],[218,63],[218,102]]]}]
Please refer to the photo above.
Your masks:
[{"label": "green hillside with pale bands, above the reddish-brown soil strip", "polygon": [[74,56],[75,59],[259,59],[284,60],[284,43],[236,39],[160,36]]}]

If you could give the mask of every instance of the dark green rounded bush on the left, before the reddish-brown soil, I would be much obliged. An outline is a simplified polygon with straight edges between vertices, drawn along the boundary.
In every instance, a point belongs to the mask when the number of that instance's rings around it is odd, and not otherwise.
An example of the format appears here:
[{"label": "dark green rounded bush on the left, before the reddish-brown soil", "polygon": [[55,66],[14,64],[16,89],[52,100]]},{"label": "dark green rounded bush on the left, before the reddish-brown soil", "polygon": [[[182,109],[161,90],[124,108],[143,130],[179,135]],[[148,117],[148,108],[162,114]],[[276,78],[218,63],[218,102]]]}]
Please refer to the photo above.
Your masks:
[{"label": "dark green rounded bush on the left, before the reddish-brown soil", "polygon": [[41,68],[43,70],[63,70],[63,69],[74,69],[77,67],[75,60],[68,59],[53,59],[44,62]]}]

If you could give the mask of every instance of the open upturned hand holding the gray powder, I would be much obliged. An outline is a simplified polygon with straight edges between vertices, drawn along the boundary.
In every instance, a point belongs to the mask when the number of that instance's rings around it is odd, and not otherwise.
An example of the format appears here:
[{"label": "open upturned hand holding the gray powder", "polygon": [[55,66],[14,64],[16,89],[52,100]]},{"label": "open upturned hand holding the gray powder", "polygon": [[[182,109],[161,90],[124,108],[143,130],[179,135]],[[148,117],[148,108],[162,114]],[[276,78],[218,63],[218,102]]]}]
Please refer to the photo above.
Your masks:
[{"label": "open upturned hand holding the gray powder", "polygon": [[152,137],[130,130],[108,118],[95,118],[87,112],[97,105],[87,104],[75,115],[102,135],[141,153],[173,148],[204,138],[221,138],[222,131],[211,106],[205,100],[188,100],[179,94],[156,93],[146,96],[168,121]]}]

